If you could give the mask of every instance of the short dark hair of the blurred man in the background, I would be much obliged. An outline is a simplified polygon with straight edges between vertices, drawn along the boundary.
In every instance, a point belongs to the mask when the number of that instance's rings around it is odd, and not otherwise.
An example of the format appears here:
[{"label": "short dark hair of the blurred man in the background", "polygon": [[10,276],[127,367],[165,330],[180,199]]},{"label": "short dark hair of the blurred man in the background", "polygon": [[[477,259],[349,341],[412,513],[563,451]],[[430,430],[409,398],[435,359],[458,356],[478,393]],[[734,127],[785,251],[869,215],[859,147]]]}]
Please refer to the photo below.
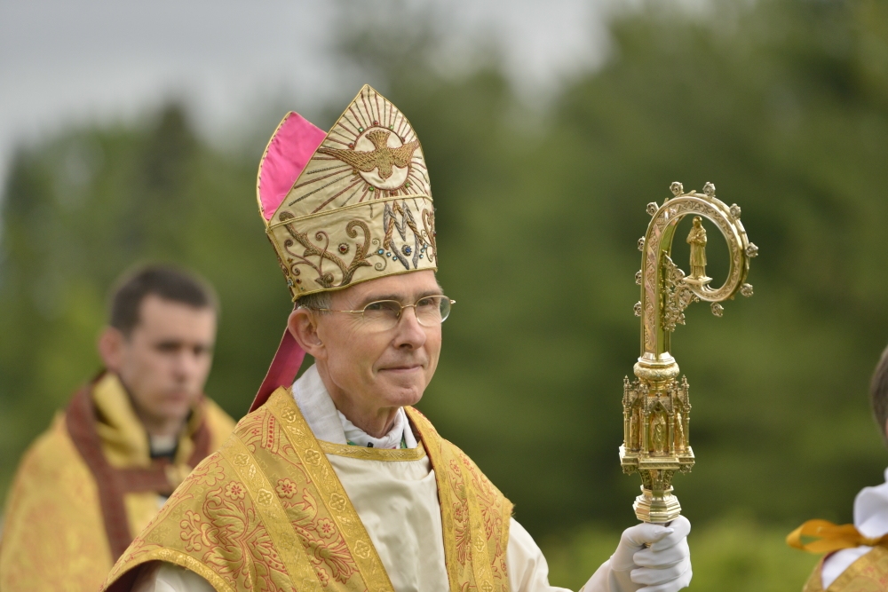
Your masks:
[{"label": "short dark hair of the blurred man in the background", "polygon": [[109,306],[111,327],[129,337],[139,325],[142,301],[150,295],[218,313],[218,296],[202,278],[170,265],[145,265],[124,273],[115,282]]}]

